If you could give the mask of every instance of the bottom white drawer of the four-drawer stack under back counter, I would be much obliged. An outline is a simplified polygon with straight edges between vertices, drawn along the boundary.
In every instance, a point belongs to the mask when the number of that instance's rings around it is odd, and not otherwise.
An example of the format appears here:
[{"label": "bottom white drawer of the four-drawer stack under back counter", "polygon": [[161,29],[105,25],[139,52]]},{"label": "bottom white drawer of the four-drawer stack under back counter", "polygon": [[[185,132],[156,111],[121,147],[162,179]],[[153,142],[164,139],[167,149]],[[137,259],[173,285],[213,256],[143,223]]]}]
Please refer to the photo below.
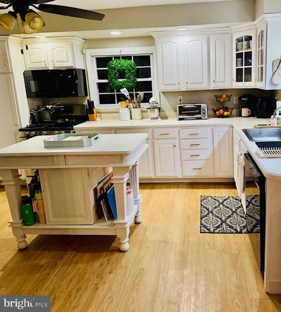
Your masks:
[{"label": "bottom white drawer of the four-drawer stack under back counter", "polygon": [[211,160],[182,161],[183,176],[212,176]]}]

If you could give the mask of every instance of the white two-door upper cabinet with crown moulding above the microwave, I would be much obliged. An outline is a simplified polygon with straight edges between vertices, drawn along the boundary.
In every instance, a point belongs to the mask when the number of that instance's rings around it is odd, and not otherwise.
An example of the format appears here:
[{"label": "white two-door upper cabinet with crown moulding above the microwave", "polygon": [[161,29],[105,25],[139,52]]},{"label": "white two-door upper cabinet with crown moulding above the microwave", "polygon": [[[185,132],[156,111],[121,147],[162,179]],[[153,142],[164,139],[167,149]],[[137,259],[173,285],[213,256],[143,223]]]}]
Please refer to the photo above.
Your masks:
[{"label": "white two-door upper cabinet with crown moulding above the microwave", "polygon": [[26,69],[85,68],[83,42],[76,37],[27,39]]}]

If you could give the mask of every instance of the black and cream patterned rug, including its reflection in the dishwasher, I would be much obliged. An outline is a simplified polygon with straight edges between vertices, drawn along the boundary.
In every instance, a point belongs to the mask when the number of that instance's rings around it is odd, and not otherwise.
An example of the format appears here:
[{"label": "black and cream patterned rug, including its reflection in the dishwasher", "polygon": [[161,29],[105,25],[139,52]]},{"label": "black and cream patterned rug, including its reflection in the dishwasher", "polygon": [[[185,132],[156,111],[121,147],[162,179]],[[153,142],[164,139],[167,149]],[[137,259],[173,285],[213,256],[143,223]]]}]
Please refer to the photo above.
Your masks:
[{"label": "black and cream patterned rug, including its reflection in the dishwasher", "polygon": [[247,216],[241,200],[233,196],[201,196],[200,233],[260,233],[259,196],[247,196]]}]

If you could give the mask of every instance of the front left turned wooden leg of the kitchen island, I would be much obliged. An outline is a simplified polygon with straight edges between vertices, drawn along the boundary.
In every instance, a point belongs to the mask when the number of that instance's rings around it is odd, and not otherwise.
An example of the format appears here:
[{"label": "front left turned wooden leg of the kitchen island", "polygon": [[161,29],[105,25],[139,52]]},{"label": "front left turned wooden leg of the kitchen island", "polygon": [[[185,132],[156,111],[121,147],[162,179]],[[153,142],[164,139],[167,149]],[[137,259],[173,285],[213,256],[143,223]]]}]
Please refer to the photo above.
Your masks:
[{"label": "front left turned wooden leg of the kitchen island", "polygon": [[20,175],[16,169],[0,169],[2,184],[5,187],[8,203],[12,215],[10,221],[14,236],[18,241],[18,249],[27,247],[26,235],[22,232],[22,215],[21,215],[21,191]]}]

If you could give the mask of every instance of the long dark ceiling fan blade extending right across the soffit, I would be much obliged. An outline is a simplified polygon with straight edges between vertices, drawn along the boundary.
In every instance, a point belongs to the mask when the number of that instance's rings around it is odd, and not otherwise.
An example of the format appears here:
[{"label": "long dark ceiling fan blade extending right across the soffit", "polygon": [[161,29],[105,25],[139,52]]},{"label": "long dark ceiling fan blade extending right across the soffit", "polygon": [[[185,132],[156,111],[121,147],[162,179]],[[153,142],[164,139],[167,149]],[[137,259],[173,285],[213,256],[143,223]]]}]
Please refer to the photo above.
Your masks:
[{"label": "long dark ceiling fan blade extending right across the soffit", "polygon": [[43,12],[71,16],[74,18],[87,20],[103,20],[105,15],[88,10],[72,8],[70,6],[54,5],[54,4],[40,4],[38,9]]}]

